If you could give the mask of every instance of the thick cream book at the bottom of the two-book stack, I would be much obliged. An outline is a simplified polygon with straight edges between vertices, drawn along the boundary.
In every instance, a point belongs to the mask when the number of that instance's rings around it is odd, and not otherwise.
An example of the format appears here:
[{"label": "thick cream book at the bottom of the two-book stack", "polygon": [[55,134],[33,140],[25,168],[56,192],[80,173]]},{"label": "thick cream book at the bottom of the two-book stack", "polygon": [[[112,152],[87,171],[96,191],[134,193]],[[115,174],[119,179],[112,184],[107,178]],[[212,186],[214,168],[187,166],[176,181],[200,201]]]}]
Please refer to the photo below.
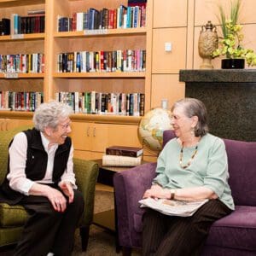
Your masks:
[{"label": "thick cream book at the bottom of the two-book stack", "polygon": [[102,166],[139,166],[142,157],[131,157],[123,155],[104,154],[102,156]]}]

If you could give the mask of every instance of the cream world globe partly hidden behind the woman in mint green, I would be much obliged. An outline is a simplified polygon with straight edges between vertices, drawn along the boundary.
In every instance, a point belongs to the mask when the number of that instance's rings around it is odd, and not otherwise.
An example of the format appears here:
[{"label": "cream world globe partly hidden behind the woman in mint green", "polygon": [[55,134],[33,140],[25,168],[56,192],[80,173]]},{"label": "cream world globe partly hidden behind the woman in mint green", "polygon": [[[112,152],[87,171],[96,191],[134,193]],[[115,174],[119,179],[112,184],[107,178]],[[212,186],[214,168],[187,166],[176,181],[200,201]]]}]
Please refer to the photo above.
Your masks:
[{"label": "cream world globe partly hidden behind the woman in mint green", "polygon": [[139,138],[147,148],[160,151],[163,144],[163,132],[172,129],[171,111],[154,108],[143,116],[139,125]]}]

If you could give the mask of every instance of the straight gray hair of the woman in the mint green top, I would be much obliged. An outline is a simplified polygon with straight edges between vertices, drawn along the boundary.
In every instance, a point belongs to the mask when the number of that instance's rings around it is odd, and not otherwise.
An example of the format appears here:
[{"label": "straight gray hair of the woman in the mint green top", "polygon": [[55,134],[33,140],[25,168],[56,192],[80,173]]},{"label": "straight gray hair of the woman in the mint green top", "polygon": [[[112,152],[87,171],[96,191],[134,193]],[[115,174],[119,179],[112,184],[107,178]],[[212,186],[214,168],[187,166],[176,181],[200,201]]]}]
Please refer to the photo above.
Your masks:
[{"label": "straight gray hair of the woman in the mint green top", "polygon": [[183,107],[184,114],[187,117],[198,117],[197,125],[195,125],[195,137],[206,135],[209,129],[207,125],[207,108],[205,104],[195,98],[183,98],[173,104],[172,110],[180,106]]}]

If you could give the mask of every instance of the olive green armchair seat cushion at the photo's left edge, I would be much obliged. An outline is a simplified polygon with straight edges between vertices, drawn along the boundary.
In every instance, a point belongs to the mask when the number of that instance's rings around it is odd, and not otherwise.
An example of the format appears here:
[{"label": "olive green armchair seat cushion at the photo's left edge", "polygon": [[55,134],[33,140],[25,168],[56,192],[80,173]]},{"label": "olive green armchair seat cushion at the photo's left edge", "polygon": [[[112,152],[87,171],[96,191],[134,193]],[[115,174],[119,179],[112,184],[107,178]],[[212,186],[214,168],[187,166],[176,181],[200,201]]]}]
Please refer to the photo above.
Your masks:
[{"label": "olive green armchair seat cushion at the photo's left edge", "polygon": [[29,217],[24,207],[0,203],[0,226],[2,228],[24,225]]}]

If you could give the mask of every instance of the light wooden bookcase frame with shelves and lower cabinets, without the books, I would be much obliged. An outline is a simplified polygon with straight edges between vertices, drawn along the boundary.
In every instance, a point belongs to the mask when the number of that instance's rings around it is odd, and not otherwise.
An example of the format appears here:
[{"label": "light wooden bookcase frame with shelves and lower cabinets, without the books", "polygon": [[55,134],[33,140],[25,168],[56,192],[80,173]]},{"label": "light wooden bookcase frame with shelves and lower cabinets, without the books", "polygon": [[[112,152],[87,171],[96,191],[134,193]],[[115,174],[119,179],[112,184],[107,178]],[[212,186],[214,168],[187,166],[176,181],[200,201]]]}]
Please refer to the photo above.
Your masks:
[{"label": "light wooden bookcase frame with shelves and lower cabinets, without the books", "polygon": [[[153,0],[148,0],[146,27],[108,29],[107,33],[86,34],[84,32],[57,32],[57,17],[69,16],[89,8],[116,9],[127,0],[23,0],[1,1],[0,18],[11,14],[26,15],[30,9],[45,9],[44,34],[24,35],[21,39],[12,36],[0,37],[0,54],[44,52],[44,74],[20,74],[18,79],[5,79],[0,74],[1,90],[42,90],[44,102],[55,98],[59,91],[102,91],[144,93],[145,112],[150,109],[151,41]],[[132,73],[57,73],[57,55],[79,50],[146,49],[146,71]],[[1,111],[0,119],[14,119],[15,125],[27,120],[32,113]],[[20,124],[17,120],[20,119]],[[97,159],[105,148],[113,144],[142,146],[137,137],[137,126],[141,117],[73,114],[73,142],[75,155],[86,159]],[[4,125],[3,125],[4,126]],[[6,125],[5,125],[6,126]]]}]

